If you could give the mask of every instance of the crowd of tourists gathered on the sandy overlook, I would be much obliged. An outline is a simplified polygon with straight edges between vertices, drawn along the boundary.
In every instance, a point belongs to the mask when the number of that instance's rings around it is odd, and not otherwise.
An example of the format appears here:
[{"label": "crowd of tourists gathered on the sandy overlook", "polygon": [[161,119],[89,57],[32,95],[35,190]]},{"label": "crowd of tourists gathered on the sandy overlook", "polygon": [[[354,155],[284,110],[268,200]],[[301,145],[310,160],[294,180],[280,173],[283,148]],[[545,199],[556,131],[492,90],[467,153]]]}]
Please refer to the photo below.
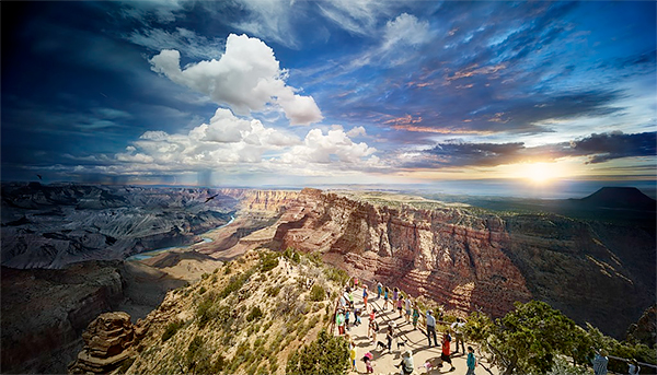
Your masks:
[{"label": "crowd of tourists gathered on the sandy overlook", "polygon": [[[393,342],[396,342],[396,350],[401,352],[402,358],[402,361],[396,365],[396,367],[400,370],[400,374],[402,375],[412,374],[415,370],[413,364],[413,350],[406,347],[407,339],[404,339],[405,335],[400,329],[400,326],[412,325],[412,330],[422,330],[423,327],[419,325],[419,318],[420,316],[424,316],[422,326],[424,326],[424,335],[427,337],[428,347],[441,347],[441,355],[439,360],[436,359],[434,362],[427,361],[417,368],[424,368],[427,373],[429,373],[434,368],[440,368],[445,363],[447,363],[450,365],[449,371],[456,371],[451,360],[451,342],[454,341],[454,353],[459,352],[460,343],[463,354],[468,354],[466,372],[464,372],[464,374],[474,374],[474,368],[477,364],[477,361],[474,356],[474,350],[472,347],[468,347],[468,353],[465,353],[463,335],[463,328],[465,326],[464,319],[457,318],[457,321],[452,323],[451,325],[447,325],[445,321],[441,321],[441,312],[438,312],[438,320],[436,319],[435,313],[431,309],[427,309],[423,315],[417,302],[413,301],[410,295],[404,295],[399,288],[390,289],[384,286],[381,282],[377,282],[376,289],[377,294],[374,301],[377,304],[372,304],[371,300],[373,300],[373,296],[370,298],[370,290],[368,285],[359,284],[359,280],[357,278],[353,278],[349,284],[345,286],[345,290],[338,300],[335,325],[337,327],[338,335],[344,335],[349,342],[349,355],[353,371],[356,371],[358,353],[354,342],[354,337],[348,332],[351,330],[351,327],[358,327],[361,324],[361,316],[367,316],[367,339],[370,345],[373,348],[367,350],[366,353],[360,356],[360,360],[365,363],[366,373],[373,373],[374,353],[379,353],[381,355],[384,352],[392,353]],[[362,296],[362,307],[355,305],[355,293],[358,293],[358,295]],[[383,301],[383,306],[381,309],[388,310],[390,307],[393,313],[392,318],[384,317],[381,312],[377,310],[377,305],[381,303],[381,300]],[[396,314],[399,314],[396,318],[394,317],[394,309],[396,309]],[[401,320],[401,323],[397,324],[397,320]],[[446,325],[440,343],[438,343],[436,332],[437,323]],[[380,340],[381,338],[383,338],[383,340]]]}]

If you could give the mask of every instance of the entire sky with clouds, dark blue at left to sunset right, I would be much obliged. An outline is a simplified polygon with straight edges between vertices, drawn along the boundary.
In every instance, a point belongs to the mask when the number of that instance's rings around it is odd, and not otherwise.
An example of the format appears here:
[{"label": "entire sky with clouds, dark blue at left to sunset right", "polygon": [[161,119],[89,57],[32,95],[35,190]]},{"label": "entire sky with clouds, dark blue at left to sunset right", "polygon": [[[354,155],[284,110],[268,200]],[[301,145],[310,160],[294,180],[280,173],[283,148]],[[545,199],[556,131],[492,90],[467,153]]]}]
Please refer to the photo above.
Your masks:
[{"label": "entire sky with clouds, dark blue at left to sunset right", "polygon": [[5,1],[1,14],[3,181],[657,179],[653,1]]}]

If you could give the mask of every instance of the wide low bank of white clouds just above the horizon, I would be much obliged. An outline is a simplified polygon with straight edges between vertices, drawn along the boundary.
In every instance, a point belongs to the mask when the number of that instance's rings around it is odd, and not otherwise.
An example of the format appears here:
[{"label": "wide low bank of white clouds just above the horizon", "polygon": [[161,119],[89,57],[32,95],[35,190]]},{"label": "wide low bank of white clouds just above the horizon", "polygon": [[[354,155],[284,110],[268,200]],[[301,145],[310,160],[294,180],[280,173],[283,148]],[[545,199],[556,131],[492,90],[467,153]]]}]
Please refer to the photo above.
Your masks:
[{"label": "wide low bank of white clouds just above the horizon", "polygon": [[[350,133],[362,134],[354,128]],[[246,169],[280,175],[346,173],[380,167],[376,149],[354,142],[342,127],[311,129],[303,140],[264,126],[256,119],[219,108],[188,133],[147,131],[115,155],[115,169],[127,174],[193,173],[204,169]],[[123,165],[123,169],[119,168]]]}]

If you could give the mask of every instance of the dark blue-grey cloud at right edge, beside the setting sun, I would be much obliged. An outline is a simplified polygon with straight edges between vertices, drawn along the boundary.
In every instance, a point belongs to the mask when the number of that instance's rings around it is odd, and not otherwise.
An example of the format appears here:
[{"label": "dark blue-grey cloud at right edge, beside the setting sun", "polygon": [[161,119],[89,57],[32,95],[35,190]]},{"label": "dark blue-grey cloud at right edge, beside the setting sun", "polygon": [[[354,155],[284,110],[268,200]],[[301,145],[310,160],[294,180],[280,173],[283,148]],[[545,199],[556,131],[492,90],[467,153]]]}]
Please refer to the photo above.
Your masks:
[{"label": "dark blue-grey cloud at right edge, beside the setting sun", "polygon": [[590,155],[589,163],[603,163],[613,159],[631,156],[655,156],[657,132],[624,134],[620,131],[591,134],[570,143],[575,153]]}]

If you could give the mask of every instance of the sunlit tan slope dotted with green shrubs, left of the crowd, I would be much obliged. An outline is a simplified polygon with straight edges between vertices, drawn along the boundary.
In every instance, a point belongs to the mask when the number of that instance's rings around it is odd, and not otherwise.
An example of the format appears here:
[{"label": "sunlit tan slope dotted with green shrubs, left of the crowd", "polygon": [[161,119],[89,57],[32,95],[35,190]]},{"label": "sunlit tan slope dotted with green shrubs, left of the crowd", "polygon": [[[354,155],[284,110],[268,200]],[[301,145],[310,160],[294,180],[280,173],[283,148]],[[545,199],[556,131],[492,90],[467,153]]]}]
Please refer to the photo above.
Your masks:
[{"label": "sunlit tan slope dotted with green shrubs, left of the crowd", "polygon": [[127,373],[283,374],[288,359],[306,368],[318,348],[331,368],[342,362],[346,368],[346,342],[326,333],[327,300],[337,296],[344,271],[312,255],[288,251],[289,260],[279,262],[280,255],[249,251],[170,292],[147,317],[149,331]]}]

